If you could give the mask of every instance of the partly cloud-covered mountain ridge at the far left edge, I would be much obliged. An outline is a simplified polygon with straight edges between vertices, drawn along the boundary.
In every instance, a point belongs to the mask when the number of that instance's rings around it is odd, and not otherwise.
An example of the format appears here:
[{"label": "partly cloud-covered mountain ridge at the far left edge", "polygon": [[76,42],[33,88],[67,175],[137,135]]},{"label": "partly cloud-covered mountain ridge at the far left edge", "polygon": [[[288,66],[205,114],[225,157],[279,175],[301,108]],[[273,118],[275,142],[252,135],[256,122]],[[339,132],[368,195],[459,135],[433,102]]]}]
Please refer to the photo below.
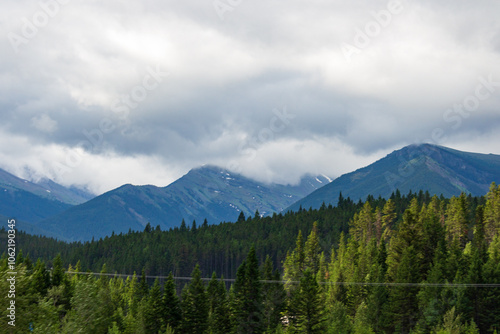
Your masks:
[{"label": "partly cloud-covered mountain ridge at the far left edge", "polygon": [[0,169],[0,214],[6,217],[36,223],[92,197],[51,180],[34,183]]}]

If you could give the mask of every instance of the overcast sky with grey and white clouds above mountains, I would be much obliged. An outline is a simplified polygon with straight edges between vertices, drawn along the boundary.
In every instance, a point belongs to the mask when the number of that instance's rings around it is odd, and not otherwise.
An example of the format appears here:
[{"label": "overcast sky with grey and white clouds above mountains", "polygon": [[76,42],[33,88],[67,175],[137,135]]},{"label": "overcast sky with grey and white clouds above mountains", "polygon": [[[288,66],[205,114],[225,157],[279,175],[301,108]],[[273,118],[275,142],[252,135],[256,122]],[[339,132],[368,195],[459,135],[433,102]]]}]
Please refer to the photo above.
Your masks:
[{"label": "overcast sky with grey and white clouds above mountains", "polygon": [[100,194],[500,154],[498,0],[4,0],[0,168]]}]

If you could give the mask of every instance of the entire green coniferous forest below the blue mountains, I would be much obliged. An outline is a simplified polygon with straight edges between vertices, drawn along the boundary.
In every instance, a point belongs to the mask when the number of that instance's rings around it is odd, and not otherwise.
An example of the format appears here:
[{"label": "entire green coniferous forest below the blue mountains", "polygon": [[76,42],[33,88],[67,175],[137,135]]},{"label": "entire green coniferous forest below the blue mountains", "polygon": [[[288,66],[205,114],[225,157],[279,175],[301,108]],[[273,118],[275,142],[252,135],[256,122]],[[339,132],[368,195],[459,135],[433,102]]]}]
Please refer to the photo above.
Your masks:
[{"label": "entire green coniferous forest below the blue mountains", "polygon": [[[1,233],[6,242],[5,230]],[[2,333],[495,333],[500,186],[86,243],[17,235]],[[0,286],[9,289],[7,256]],[[1,300],[2,317],[8,300]]]}]

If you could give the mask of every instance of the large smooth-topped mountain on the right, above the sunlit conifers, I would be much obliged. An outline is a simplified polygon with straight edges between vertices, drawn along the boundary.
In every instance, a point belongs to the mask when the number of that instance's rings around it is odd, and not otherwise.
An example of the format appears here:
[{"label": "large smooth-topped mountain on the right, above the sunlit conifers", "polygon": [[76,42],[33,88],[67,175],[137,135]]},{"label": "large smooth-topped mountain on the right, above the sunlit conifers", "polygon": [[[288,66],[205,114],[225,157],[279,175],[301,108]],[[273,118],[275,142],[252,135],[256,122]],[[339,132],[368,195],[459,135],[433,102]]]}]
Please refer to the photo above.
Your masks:
[{"label": "large smooth-topped mountain on the right, above the sunlit conifers", "polygon": [[389,198],[396,189],[403,194],[423,190],[445,197],[461,192],[481,196],[488,192],[492,182],[500,183],[500,155],[462,152],[431,144],[410,145],[340,176],[287,210],[319,208],[323,202],[335,205],[340,192],[354,201],[365,200],[368,195]]}]

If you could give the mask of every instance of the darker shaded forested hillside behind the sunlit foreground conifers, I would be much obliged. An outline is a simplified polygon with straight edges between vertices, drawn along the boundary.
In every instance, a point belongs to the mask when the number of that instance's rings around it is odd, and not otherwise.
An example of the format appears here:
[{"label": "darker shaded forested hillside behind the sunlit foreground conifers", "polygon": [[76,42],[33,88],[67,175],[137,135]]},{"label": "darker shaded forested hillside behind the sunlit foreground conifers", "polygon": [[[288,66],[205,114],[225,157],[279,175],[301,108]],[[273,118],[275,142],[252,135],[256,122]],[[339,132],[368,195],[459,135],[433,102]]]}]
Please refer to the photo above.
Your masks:
[{"label": "darker shaded forested hillside behind the sunlit foreground conifers", "polygon": [[[403,212],[413,198],[420,205],[431,201],[429,194],[424,192],[403,196],[396,192],[391,198],[396,222],[402,220]],[[371,196],[367,201],[379,210],[386,204],[386,200]],[[484,199],[467,197],[467,202],[474,211],[477,205],[484,204]],[[94,272],[106,264],[109,272],[133,273],[144,268],[148,275],[172,271],[176,276],[188,276],[199,263],[204,275],[216,271],[226,278],[234,278],[251,245],[255,245],[259,261],[264,261],[269,255],[275,266],[281,266],[287,250],[294,247],[299,231],[306,235],[314,222],[318,224],[322,249],[329,254],[332,246],[338,246],[340,234],[348,233],[349,222],[363,205],[341,196],[335,207],[301,209],[297,213],[271,217],[260,217],[258,212],[247,218],[240,214],[237,222],[219,225],[183,222],[179,228],[168,231],[147,225],[142,232],[129,231],[93,242],[65,243],[24,233],[18,234],[17,239],[24,254],[29,254],[32,259],[42,258],[50,262],[61,254],[65,266],[80,261],[83,268]],[[469,218],[473,220],[472,215]],[[5,238],[5,234],[1,237]]]}]

